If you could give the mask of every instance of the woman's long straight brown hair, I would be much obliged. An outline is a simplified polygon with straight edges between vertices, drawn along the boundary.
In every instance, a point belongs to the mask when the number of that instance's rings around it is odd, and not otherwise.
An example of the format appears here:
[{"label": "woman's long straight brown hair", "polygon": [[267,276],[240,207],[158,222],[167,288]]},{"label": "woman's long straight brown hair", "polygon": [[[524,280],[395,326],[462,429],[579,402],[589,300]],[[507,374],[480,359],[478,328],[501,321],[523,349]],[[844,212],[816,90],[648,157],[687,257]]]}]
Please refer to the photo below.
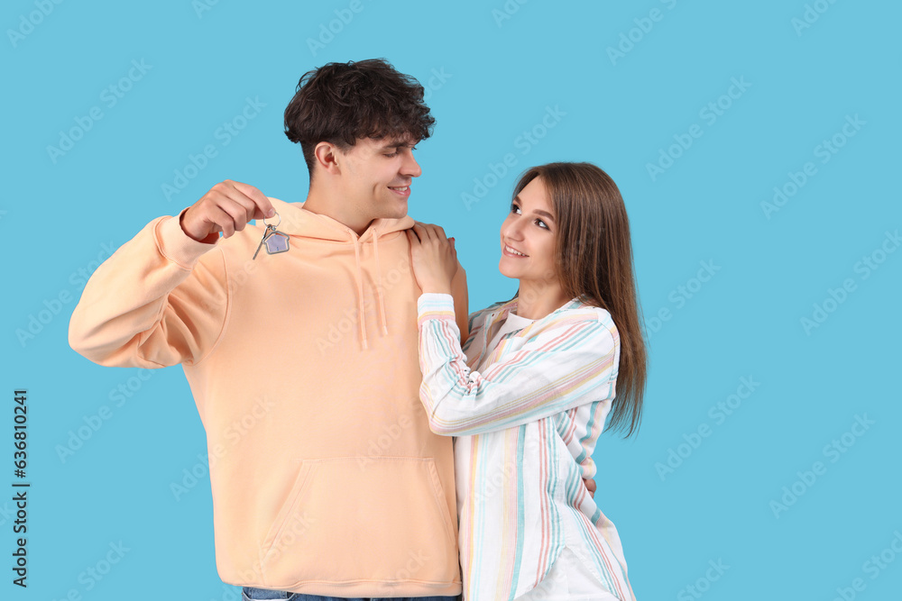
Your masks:
[{"label": "woman's long straight brown hair", "polygon": [[639,429],[648,357],[632,268],[630,221],[620,190],[592,163],[529,168],[513,196],[535,178],[548,192],[557,223],[555,263],[564,294],[602,307],[620,334],[621,357],[608,429]]}]

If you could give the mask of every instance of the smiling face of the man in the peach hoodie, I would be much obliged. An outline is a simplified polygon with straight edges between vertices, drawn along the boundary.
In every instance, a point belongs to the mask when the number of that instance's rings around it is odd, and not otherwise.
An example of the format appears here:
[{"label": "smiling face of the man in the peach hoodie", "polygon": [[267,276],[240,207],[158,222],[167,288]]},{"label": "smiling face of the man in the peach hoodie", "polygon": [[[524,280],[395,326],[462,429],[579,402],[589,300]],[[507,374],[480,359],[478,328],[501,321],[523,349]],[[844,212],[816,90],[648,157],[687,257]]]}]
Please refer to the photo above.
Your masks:
[{"label": "smiling face of the man in the peach hoodie", "polygon": [[337,152],[345,199],[367,219],[400,219],[407,214],[410,183],[422,169],[413,158],[416,141],[361,138],[347,152]]}]

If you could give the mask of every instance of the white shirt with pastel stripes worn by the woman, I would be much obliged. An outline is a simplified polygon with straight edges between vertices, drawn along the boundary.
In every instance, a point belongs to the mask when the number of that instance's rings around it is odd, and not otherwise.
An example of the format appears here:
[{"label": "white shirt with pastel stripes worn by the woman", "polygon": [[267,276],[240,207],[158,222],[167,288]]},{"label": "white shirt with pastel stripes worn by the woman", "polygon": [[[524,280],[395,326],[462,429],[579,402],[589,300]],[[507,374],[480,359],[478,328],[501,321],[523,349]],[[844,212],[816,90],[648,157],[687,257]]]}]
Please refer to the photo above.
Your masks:
[{"label": "white shirt with pastel stripes worn by the woman", "polygon": [[488,348],[514,299],[470,315],[461,349],[450,295],[424,294],[418,309],[420,400],[432,431],[456,436],[464,598],[521,596],[566,547],[634,599],[617,530],[583,483],[615,392],[611,315],[573,299]]}]

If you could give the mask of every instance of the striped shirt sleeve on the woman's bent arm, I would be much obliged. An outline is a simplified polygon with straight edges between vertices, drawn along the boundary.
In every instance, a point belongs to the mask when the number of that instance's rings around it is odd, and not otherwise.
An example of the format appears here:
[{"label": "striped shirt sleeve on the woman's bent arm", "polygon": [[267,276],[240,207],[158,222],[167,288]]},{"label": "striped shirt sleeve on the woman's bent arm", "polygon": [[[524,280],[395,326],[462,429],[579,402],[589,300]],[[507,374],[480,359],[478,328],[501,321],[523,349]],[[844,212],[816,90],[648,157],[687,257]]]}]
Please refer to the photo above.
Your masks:
[{"label": "striped shirt sleeve on the woman's bent arm", "polygon": [[457,341],[452,297],[421,295],[418,309],[419,396],[434,433],[502,430],[613,396],[619,341],[600,318],[558,319],[480,373]]}]

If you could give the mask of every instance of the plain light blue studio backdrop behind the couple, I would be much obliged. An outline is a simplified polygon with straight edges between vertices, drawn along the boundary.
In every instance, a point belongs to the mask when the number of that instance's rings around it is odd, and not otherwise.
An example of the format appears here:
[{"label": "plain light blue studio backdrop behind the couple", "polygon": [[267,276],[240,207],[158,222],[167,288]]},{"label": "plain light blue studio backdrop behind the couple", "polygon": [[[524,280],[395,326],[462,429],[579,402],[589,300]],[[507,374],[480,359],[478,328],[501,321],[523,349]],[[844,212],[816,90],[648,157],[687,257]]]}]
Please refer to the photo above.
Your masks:
[{"label": "plain light blue studio backdrop behind the couple", "polygon": [[[820,0],[805,23],[803,0],[350,4],[48,1],[46,15],[41,0],[4,4],[0,454],[13,481],[12,392],[26,387],[32,488],[27,590],[11,584],[14,507],[0,502],[2,596],[235,598],[216,575],[205,436],[181,370],[148,378],[71,351],[79,270],[226,178],[302,201],[307,171],[282,132],[300,75],[385,57],[429,88],[437,127],[419,145],[410,214],[456,236],[471,311],[516,287],[497,272],[498,228],[522,169],[590,160],[621,188],[648,394],[639,435],[603,435],[594,459],[596,498],[621,533],[638,598],[833,599],[855,578],[857,597],[900,598],[890,543],[898,536],[902,549],[902,252],[887,250],[902,225],[902,7]],[[104,90],[133,61],[149,67],[132,70],[111,105]],[[731,88],[733,78],[748,87]],[[217,128],[248,97],[265,106],[226,145]],[[712,120],[703,110],[718,102],[729,106]],[[92,107],[102,118],[51,156]],[[543,131],[549,107],[559,118]],[[701,137],[670,148],[694,124]],[[834,135],[842,148],[818,154]],[[207,144],[216,157],[167,199],[163,184]],[[678,156],[658,163],[661,152]],[[515,167],[486,178],[507,153]],[[807,162],[815,175],[776,210],[762,205]],[[649,164],[667,168],[652,175]],[[468,206],[474,178],[493,185]],[[865,257],[878,269],[865,271]],[[694,279],[703,261],[714,273],[705,282]],[[854,289],[843,297],[846,279]],[[842,303],[829,302],[831,289]],[[822,323],[815,305],[830,310]],[[669,319],[656,322],[662,309]],[[40,330],[23,336],[32,317]],[[712,407],[747,392],[741,378],[759,384],[717,417]],[[115,406],[120,385],[131,396]],[[60,459],[69,431],[103,405],[109,419]],[[860,436],[856,416],[872,422]],[[700,427],[709,435],[695,438]],[[829,450],[834,440],[842,453]],[[797,472],[815,461],[824,469],[805,483]],[[176,500],[170,483],[185,469],[201,478]],[[801,494],[787,496],[793,487]],[[119,542],[128,551],[92,583],[87,568]],[[883,568],[866,563],[887,549]]]}]

